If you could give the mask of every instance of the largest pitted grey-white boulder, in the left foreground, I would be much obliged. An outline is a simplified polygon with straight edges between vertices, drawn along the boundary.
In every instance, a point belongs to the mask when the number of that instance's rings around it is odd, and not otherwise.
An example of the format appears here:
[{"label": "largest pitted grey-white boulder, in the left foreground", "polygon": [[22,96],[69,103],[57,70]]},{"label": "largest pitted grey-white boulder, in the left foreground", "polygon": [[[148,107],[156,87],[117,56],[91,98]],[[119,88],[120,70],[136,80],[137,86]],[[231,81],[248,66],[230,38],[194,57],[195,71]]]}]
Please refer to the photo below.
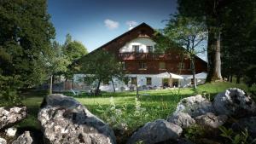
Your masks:
[{"label": "largest pitted grey-white boulder, in the left foreground", "polygon": [[72,97],[61,94],[44,98],[38,112],[46,143],[114,144],[113,130]]}]

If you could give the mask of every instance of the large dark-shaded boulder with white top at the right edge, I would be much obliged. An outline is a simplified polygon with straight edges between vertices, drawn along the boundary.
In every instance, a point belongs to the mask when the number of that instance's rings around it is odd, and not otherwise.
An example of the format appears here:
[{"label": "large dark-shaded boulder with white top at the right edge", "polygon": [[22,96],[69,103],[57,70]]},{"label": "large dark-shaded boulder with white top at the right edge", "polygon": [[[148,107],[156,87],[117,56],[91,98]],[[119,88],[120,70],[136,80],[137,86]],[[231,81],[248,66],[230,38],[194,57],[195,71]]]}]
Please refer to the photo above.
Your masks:
[{"label": "large dark-shaded boulder with white top at the right edge", "polygon": [[213,106],[218,114],[236,118],[250,116],[256,112],[256,106],[251,97],[237,88],[230,88],[216,95]]}]

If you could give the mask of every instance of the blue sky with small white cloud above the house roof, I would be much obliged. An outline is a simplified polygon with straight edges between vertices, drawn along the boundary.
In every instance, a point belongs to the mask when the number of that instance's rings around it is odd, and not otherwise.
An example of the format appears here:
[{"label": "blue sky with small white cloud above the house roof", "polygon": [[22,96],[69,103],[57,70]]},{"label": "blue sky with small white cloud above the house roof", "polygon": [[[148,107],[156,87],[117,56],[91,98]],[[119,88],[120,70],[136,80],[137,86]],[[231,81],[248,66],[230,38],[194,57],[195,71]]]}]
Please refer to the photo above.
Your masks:
[{"label": "blue sky with small white cloud above the house roof", "polygon": [[163,28],[176,9],[176,0],[48,0],[56,40],[64,43],[70,33],[89,52],[128,31],[128,24]]}]

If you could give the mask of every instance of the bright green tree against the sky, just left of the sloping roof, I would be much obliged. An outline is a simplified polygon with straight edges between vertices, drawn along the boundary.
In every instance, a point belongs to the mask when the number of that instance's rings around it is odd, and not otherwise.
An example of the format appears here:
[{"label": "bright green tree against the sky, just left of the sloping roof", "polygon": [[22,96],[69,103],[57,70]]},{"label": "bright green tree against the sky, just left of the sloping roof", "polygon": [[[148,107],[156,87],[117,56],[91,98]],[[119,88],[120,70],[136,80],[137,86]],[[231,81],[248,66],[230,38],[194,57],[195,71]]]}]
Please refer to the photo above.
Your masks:
[{"label": "bright green tree against the sky, just left of the sloping roof", "polygon": [[[78,60],[83,55],[88,54],[87,49],[84,47],[83,43],[78,41],[73,41],[70,34],[66,36],[66,42],[62,46],[63,54],[67,56],[67,59],[73,63]],[[69,66],[67,71],[64,72],[64,76],[67,78],[72,78],[75,70],[73,66]]]}]

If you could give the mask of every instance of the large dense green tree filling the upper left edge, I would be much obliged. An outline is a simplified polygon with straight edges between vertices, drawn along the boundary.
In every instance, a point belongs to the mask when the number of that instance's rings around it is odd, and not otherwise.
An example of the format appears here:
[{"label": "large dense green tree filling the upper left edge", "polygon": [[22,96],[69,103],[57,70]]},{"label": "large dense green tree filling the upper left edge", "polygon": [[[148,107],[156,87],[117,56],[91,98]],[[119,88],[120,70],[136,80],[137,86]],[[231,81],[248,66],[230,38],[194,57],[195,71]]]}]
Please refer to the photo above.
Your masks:
[{"label": "large dense green tree filling the upper left edge", "polygon": [[0,3],[0,95],[40,84],[47,77],[44,57],[55,28],[45,0]]}]

